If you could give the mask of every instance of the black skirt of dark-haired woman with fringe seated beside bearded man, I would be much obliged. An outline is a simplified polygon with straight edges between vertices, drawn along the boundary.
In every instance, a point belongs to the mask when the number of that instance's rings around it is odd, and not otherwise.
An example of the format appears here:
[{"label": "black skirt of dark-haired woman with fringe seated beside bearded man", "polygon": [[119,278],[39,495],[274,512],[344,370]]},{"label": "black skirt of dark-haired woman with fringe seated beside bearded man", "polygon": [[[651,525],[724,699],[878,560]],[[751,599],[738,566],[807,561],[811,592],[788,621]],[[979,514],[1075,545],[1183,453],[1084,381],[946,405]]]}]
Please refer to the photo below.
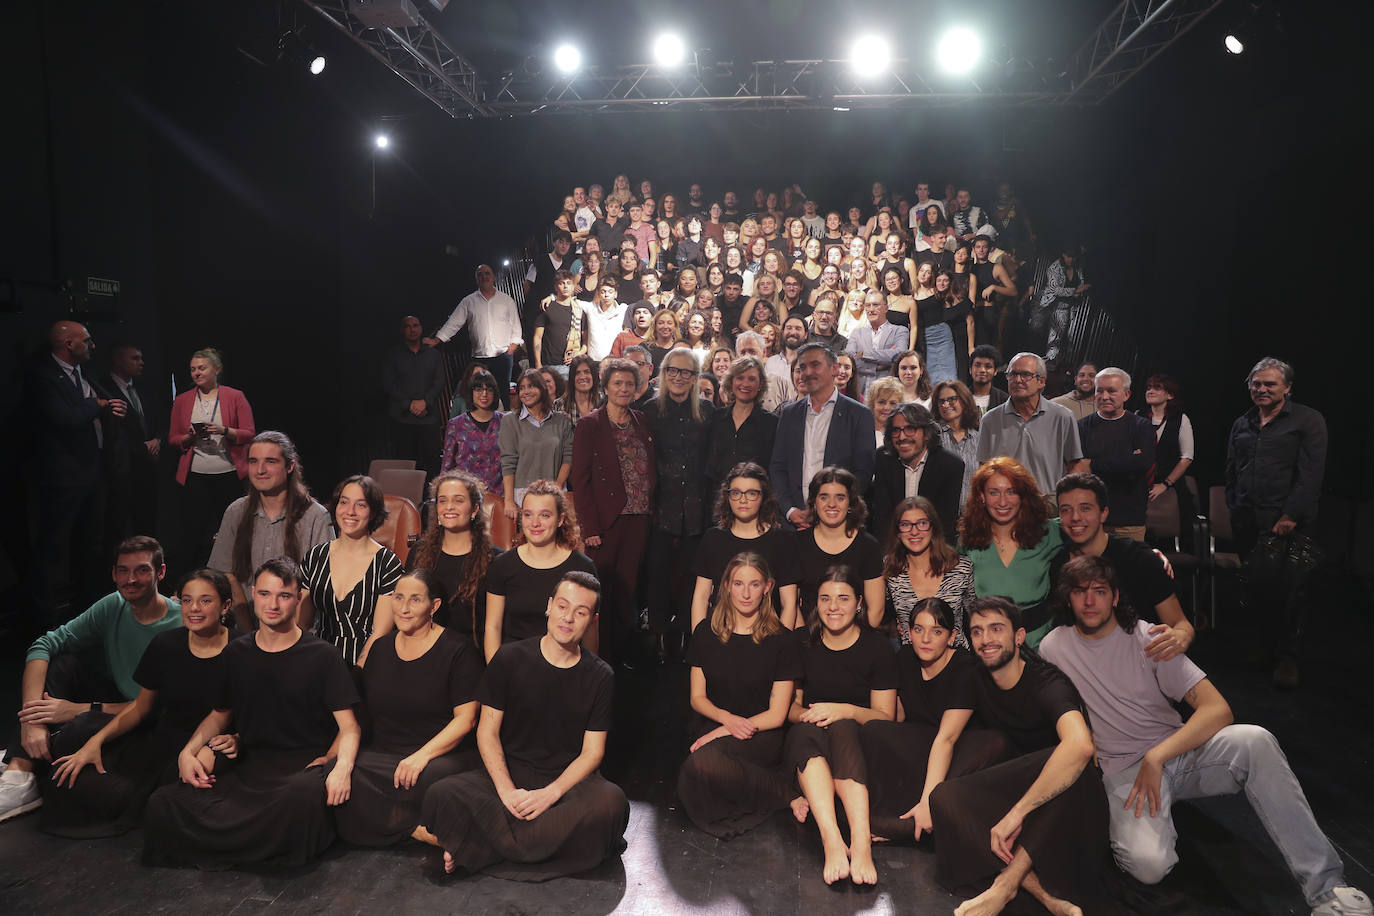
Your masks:
[{"label": "black skirt of dark-haired woman with fringe seated beside bearded man", "polygon": [[[926,765],[938,731],[925,722],[874,720],[861,729],[868,764],[868,821],[874,836],[914,842],[915,824],[903,817],[926,791]],[[1002,732],[969,728],[954,746],[947,780],[987,769],[1007,758],[1010,746]]]}]

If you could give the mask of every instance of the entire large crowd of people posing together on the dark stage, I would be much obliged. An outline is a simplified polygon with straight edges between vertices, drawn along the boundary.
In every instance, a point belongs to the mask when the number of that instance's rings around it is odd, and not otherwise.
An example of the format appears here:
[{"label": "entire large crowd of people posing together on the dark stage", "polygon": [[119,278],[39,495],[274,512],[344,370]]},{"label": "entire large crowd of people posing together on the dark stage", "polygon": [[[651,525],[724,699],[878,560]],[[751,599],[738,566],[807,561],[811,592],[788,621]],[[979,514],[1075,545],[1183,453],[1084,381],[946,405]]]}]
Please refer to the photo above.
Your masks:
[{"label": "entire large crowd of people posing together on the dark stage", "polygon": [[[680,652],[686,816],[719,838],[813,823],[827,883],[874,884],[874,843],[934,835],[941,883],[976,889],[959,912],[1022,890],[1094,912],[1109,853],[1158,882],[1172,802],[1243,790],[1314,913],[1371,912],[1274,737],[1189,661],[1143,542],[1194,453],[1179,382],[1153,376],[1136,415],[1127,371],[1074,367],[1076,416],[1041,396],[1040,354],[1003,364],[1035,238],[1010,187],[985,213],[875,184],[841,214],[797,187],[749,209],[620,176],[576,188],[550,238],[523,309],[484,265],[433,336],[403,323],[389,419],[431,471],[404,559],[375,537],[375,481],[315,501],[290,437],[192,356],[165,438],[188,571],[164,595],[161,544],[122,537],[115,591],[33,643],[0,820],[142,823],[155,865],[300,864],[338,836],[576,873],[624,849],[600,773],[616,681]],[[1061,261],[1055,295],[1083,295]],[[445,405],[426,353],[464,327]],[[51,343],[52,438],[98,452],[132,389],[84,379],[84,327]],[[1246,551],[1315,518],[1325,424],[1292,385],[1259,361],[1231,430]],[[1292,596],[1272,611],[1300,632]]]}]

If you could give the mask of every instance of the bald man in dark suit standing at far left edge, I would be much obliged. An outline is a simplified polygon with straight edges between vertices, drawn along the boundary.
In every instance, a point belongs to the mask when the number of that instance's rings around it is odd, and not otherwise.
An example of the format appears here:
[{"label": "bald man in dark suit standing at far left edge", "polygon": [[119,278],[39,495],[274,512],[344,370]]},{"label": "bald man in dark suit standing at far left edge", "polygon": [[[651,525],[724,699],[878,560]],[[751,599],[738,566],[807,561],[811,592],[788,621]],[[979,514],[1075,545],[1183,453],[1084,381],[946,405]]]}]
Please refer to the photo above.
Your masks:
[{"label": "bald man in dark suit standing at far left edge", "polygon": [[[41,500],[32,622],[49,629],[102,591],[95,578],[103,533],[100,416],[122,417],[128,405],[87,378],[82,367],[93,352],[84,324],[58,321],[48,330],[48,356],[29,371],[33,475]],[[59,596],[58,582],[70,582],[76,593]]]}]

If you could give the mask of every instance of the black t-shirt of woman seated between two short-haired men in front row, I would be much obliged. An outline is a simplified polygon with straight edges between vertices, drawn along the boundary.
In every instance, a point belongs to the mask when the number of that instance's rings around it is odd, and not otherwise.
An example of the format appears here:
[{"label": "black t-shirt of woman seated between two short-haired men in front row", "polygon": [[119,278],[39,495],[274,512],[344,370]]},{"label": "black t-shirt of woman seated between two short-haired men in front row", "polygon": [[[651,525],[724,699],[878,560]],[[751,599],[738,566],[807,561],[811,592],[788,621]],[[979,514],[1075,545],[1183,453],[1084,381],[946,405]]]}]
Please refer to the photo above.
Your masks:
[{"label": "black t-shirt of woman seated between two short-haired men in front row", "polygon": [[445,629],[419,658],[396,654],[396,630],[372,643],[363,695],[372,717],[371,746],[414,754],[453,721],[453,707],[477,699],[482,654],[467,636]]}]

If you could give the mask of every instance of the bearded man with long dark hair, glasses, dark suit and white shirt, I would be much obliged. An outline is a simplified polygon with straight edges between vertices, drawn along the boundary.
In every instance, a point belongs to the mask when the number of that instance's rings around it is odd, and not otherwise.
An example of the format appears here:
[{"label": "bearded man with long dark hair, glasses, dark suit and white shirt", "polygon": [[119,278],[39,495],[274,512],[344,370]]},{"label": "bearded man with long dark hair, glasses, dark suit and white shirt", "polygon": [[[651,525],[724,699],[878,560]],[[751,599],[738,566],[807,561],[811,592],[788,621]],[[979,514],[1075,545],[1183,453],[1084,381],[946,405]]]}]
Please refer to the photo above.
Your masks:
[{"label": "bearded man with long dark hair, glasses, dark suit and white shirt", "polygon": [[923,496],[936,507],[945,540],[954,541],[959,520],[963,461],[940,448],[930,411],[903,404],[888,417],[886,445],[878,450],[868,518],[872,533],[888,537],[892,512],[908,496]]}]

